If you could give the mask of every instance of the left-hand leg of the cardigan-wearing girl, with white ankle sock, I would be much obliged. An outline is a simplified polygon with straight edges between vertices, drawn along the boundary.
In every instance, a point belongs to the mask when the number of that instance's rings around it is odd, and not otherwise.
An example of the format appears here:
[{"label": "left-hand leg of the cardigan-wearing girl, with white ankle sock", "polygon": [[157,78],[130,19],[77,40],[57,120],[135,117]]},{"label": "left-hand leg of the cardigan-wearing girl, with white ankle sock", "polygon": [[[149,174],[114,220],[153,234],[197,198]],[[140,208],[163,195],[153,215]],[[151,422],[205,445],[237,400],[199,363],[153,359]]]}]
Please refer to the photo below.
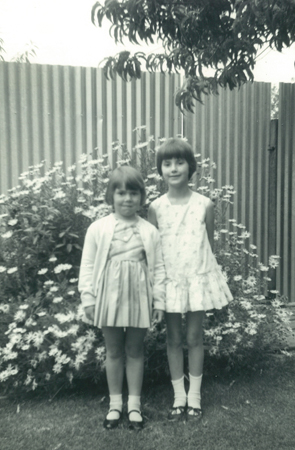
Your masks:
[{"label": "left-hand leg of the cardigan-wearing girl, with white ankle sock", "polygon": [[[103,327],[106,345],[106,374],[110,393],[110,410],[122,412],[122,384],[124,375],[124,328]],[[117,420],[117,411],[108,413],[107,420]]]}]

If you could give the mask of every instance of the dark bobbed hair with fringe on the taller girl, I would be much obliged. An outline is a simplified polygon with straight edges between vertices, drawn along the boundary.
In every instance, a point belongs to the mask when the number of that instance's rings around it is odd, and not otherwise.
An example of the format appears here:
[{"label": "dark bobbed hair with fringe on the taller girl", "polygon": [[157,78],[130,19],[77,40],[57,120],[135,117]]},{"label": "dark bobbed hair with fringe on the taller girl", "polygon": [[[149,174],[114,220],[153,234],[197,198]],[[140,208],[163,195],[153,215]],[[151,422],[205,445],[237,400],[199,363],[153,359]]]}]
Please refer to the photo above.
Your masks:
[{"label": "dark bobbed hair with fringe on the taller girl", "polygon": [[162,162],[165,159],[183,158],[189,165],[189,179],[197,170],[197,163],[191,146],[183,139],[167,139],[157,151],[157,169],[162,176]]}]

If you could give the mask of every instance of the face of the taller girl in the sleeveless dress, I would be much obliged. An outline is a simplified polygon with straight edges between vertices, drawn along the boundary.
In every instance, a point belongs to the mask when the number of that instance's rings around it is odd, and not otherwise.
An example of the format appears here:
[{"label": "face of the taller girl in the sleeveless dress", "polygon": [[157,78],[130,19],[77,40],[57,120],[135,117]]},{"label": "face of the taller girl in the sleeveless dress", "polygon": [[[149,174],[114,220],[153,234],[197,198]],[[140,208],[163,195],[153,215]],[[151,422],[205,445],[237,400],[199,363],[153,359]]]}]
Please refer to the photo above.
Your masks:
[{"label": "face of the taller girl in the sleeveless dress", "polygon": [[189,165],[184,158],[164,159],[162,174],[168,186],[183,186],[188,183]]}]

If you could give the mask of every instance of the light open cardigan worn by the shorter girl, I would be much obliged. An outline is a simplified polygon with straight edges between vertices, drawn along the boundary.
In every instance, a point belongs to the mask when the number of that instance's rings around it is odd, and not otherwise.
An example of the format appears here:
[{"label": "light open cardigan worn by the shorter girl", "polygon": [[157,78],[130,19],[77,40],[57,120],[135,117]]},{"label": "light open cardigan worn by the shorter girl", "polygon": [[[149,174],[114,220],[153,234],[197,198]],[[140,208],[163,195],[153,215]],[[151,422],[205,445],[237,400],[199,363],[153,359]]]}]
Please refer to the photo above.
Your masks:
[{"label": "light open cardigan worn by the shorter girl", "polygon": [[[107,262],[116,218],[109,214],[93,222],[87,229],[82,252],[78,289],[83,307],[94,306],[98,284]],[[149,222],[138,217],[138,230],[146,252],[149,280],[153,293],[153,308],[165,310],[166,273],[160,235]]]}]

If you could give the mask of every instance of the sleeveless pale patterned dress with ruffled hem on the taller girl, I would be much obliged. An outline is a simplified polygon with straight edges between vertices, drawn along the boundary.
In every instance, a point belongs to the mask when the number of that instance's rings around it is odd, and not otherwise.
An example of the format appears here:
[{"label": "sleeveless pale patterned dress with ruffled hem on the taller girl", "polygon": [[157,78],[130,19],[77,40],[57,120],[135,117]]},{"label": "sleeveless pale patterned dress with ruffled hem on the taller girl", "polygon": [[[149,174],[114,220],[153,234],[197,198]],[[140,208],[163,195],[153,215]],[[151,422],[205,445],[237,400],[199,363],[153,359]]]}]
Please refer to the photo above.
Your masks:
[{"label": "sleeveless pale patterned dress with ruffled hem on the taller girl", "polygon": [[205,217],[209,202],[192,192],[185,205],[172,205],[167,194],[152,203],[167,273],[167,312],[221,309],[232,300],[208,239]]}]

